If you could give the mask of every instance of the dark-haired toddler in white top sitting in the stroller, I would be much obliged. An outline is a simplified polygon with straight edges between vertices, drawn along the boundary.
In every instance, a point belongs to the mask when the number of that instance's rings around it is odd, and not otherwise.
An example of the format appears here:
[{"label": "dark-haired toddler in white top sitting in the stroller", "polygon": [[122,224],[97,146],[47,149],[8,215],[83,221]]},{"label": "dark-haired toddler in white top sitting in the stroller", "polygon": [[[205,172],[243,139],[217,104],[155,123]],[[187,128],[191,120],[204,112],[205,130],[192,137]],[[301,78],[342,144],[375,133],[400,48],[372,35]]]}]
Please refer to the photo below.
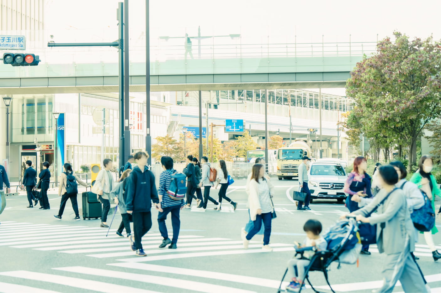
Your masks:
[{"label": "dark-haired toddler in white top sitting in the stroller", "polygon": [[288,276],[291,278],[291,282],[286,286],[287,291],[299,292],[302,286],[305,286],[303,283],[305,267],[309,266],[310,259],[316,251],[326,250],[328,243],[320,235],[321,229],[321,223],[318,220],[307,220],[303,226],[306,238],[303,241],[303,245],[295,242],[296,248],[311,247],[312,249],[306,250],[302,258],[293,258],[288,261]]}]

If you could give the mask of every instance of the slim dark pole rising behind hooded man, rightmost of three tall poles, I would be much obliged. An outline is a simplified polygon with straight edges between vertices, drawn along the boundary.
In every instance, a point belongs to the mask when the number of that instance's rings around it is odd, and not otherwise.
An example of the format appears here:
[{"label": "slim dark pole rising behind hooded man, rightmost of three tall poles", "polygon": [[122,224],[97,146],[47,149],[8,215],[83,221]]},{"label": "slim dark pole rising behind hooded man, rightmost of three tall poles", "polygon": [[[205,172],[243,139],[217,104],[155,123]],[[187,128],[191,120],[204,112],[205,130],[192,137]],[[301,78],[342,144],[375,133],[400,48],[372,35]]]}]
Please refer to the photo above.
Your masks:
[{"label": "slim dark pole rising behind hooded man, rightmost of three tall poles", "polygon": [[[150,137],[150,15],[149,0],[146,0],[146,152],[152,152],[152,138]],[[152,164],[149,157],[147,165]]]}]

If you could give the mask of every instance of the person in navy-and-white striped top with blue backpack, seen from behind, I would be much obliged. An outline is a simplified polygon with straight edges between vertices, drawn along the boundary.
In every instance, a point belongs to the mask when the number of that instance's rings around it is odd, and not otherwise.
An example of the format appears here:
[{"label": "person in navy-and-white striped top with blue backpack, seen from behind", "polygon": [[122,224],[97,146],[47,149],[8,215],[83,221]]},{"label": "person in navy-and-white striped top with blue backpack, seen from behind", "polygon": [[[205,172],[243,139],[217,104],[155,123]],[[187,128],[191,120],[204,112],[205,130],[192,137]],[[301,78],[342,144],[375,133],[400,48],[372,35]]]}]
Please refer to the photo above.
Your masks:
[{"label": "person in navy-and-white striped top with blue backpack, seen from behind", "polygon": [[[161,165],[164,171],[159,176],[158,195],[161,201],[162,212],[158,212],[158,226],[164,239],[159,248],[164,248],[170,244],[168,246],[169,249],[176,249],[181,225],[179,211],[185,205],[184,198],[187,193],[187,187],[185,186],[186,175],[173,169],[173,159],[171,157],[161,157]],[[167,226],[165,225],[168,213],[172,214],[172,240],[168,238]]]}]

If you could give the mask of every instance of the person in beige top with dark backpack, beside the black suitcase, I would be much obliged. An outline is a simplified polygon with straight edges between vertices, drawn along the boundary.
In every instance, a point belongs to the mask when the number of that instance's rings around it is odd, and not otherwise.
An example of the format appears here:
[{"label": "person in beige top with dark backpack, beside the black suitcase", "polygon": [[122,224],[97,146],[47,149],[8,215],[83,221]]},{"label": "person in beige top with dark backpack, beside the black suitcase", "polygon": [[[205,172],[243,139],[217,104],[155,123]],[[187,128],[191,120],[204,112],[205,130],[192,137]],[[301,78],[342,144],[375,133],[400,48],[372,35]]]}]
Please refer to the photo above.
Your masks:
[{"label": "person in beige top with dark backpack, beside the black suitcase", "polygon": [[81,179],[78,178],[78,176],[75,175],[75,172],[72,170],[71,164],[65,163],[64,172],[61,173],[59,178],[60,186],[58,187],[58,196],[61,196],[60,210],[58,211],[58,215],[54,215],[54,217],[57,218],[58,220],[61,220],[61,216],[63,216],[64,207],[66,206],[66,202],[68,199],[71,200],[72,209],[74,209],[75,212],[75,218],[73,218],[72,220],[74,221],[81,220],[78,212],[77,181],[84,187],[90,187],[89,184],[82,181]]}]

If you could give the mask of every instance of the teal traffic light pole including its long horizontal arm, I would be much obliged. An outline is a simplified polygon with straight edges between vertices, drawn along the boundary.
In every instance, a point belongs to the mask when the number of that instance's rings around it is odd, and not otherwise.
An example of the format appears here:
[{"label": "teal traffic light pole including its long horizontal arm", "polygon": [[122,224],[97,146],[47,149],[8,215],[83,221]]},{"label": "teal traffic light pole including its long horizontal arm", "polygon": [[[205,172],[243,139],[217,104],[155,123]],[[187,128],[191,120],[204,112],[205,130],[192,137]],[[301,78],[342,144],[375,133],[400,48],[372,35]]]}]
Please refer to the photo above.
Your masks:
[{"label": "teal traffic light pole including its long horizontal arm", "polygon": [[[120,100],[120,160],[119,160],[119,164],[120,166],[124,165],[124,125],[127,125],[127,128],[129,126],[128,124],[128,119],[127,121],[124,119],[124,109],[127,107],[127,110],[129,109],[129,104],[128,104],[128,95],[127,95],[127,103],[125,103],[126,99],[124,99],[124,6],[123,6],[123,2],[119,2],[118,3],[118,34],[119,34],[119,40],[117,40],[116,42],[111,42],[111,43],[54,43],[54,42],[49,42],[48,43],[48,47],[115,47],[118,48],[119,50],[119,100]],[[148,7],[148,0],[147,0],[147,7]],[[147,8],[148,9],[148,8]],[[148,36],[148,34],[147,34]],[[148,37],[147,37],[147,42],[148,42]],[[128,48],[128,45],[127,45]],[[147,52],[149,51],[149,48],[147,47]],[[128,55],[128,50],[127,50],[127,55]],[[148,54],[147,54],[148,55]],[[128,59],[127,59],[128,62]],[[148,62],[148,59],[147,59]],[[147,63],[149,64],[149,63]],[[149,67],[149,66],[147,66]],[[127,68],[128,69],[128,68]],[[148,72],[149,73],[149,72]],[[149,80],[149,79],[148,79]],[[150,86],[150,84],[148,85]],[[127,84],[128,87],[128,84]],[[148,101],[149,101],[149,96],[148,96]],[[150,102],[150,101],[149,101]],[[150,103],[147,106],[147,109],[150,108]],[[147,121],[149,121],[149,112],[147,113]],[[149,121],[150,122],[150,121]],[[148,122],[148,123],[149,123]],[[149,129],[149,124],[147,126]],[[127,132],[127,135],[129,135],[130,132]],[[127,136],[127,140],[130,142],[130,137]],[[130,149],[128,150],[130,152]]]}]

